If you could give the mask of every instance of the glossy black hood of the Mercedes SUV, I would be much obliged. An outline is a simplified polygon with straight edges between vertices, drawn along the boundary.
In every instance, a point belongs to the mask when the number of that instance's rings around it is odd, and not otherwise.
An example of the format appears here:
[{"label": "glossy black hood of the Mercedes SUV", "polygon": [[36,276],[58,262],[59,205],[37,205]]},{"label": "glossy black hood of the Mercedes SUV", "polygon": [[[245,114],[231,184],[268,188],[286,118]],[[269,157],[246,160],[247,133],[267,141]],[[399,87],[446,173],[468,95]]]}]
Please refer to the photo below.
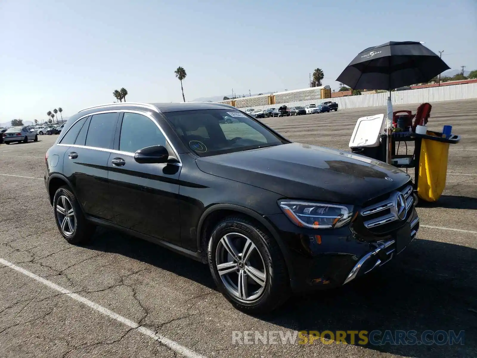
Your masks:
[{"label": "glossy black hood of the Mercedes SUV", "polygon": [[[371,158],[300,143],[197,158],[200,170],[287,198],[362,205],[410,177]],[[387,178],[387,179],[386,179]]]}]

